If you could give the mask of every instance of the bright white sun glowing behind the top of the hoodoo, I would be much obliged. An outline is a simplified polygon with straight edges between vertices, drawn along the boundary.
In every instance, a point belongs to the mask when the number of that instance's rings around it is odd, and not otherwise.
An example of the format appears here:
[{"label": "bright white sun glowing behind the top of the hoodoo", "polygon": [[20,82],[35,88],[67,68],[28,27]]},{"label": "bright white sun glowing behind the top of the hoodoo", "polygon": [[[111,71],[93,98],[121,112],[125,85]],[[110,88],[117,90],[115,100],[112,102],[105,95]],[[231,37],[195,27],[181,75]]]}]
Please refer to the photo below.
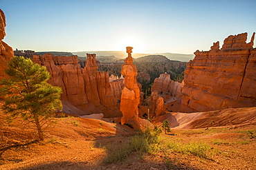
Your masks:
[{"label": "bright white sun glowing behind the top of the hoodoo", "polygon": [[143,53],[143,44],[140,43],[140,41],[138,41],[138,39],[134,38],[134,37],[125,37],[125,38],[122,38],[117,46],[116,46],[116,49],[118,51],[124,51],[125,50],[125,47],[134,47],[134,49],[132,50],[132,52],[134,53]]}]

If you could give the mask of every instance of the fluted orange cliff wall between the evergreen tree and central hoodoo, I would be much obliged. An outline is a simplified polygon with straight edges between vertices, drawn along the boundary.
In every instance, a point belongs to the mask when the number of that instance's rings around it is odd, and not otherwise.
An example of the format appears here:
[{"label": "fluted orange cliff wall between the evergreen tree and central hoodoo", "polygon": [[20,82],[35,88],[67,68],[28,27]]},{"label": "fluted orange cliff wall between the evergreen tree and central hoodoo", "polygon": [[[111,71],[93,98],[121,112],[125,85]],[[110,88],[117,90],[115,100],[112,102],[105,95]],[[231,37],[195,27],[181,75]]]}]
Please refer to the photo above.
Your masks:
[{"label": "fluted orange cliff wall between the evergreen tree and central hoodoo", "polygon": [[102,113],[105,117],[121,116],[109,84],[108,72],[99,72],[95,54],[87,54],[86,65],[77,56],[33,56],[33,61],[46,66],[51,74],[48,83],[62,87],[62,104],[68,114]]}]

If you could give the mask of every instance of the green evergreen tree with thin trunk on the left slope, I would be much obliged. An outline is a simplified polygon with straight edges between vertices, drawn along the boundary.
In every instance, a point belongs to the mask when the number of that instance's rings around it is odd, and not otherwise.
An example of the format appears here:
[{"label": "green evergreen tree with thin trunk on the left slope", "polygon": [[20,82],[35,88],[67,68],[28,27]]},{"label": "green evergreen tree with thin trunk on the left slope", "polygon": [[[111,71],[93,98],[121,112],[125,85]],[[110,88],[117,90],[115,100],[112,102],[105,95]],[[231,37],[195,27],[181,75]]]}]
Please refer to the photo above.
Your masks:
[{"label": "green evergreen tree with thin trunk on the left slope", "polygon": [[1,109],[10,121],[21,117],[26,124],[33,123],[40,140],[57,109],[62,109],[60,87],[53,87],[46,81],[50,78],[46,67],[41,67],[23,56],[14,56],[5,70],[10,78],[0,81],[1,95],[6,99]]}]

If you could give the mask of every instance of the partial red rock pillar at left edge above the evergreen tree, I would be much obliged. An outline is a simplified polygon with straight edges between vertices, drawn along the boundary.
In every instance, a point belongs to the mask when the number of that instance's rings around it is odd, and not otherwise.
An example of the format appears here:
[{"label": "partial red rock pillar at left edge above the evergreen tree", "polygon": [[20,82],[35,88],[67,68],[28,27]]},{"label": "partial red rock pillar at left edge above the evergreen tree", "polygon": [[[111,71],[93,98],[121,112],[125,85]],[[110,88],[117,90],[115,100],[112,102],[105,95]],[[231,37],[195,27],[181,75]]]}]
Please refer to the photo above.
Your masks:
[{"label": "partial red rock pillar at left edge above the evergreen tree", "polygon": [[7,78],[4,70],[8,68],[7,63],[13,56],[12,47],[2,41],[4,39],[4,36],[6,36],[6,16],[0,9],[0,81],[3,78]]}]

